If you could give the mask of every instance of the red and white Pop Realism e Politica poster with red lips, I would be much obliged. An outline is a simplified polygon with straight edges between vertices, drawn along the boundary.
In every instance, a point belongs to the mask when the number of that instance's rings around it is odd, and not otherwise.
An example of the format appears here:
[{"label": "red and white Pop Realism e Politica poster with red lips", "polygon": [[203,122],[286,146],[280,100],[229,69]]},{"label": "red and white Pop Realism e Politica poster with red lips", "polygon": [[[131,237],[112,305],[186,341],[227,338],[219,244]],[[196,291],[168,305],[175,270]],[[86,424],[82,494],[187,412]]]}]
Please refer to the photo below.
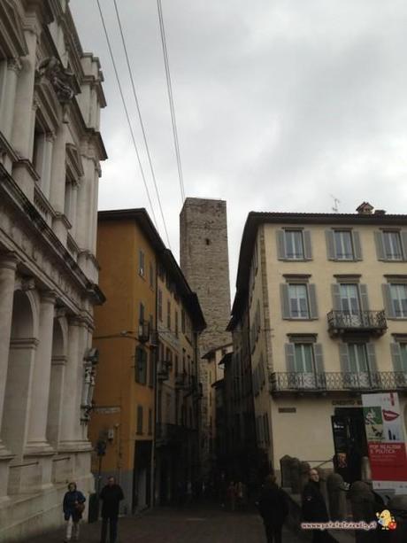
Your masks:
[{"label": "red and white Pop Realism e Politica poster with red lips", "polygon": [[407,488],[403,416],[395,392],[362,394],[373,486]]}]

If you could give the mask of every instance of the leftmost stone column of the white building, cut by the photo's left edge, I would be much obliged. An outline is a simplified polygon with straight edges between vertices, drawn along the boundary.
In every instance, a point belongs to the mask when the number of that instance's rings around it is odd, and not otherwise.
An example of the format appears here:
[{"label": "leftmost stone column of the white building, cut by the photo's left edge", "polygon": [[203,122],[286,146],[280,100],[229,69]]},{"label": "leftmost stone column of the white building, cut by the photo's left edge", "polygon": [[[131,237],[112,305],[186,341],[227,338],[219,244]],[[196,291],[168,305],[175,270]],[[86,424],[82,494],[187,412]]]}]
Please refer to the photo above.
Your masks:
[{"label": "leftmost stone column of the white building, cut by the photo's left edge", "polygon": [[[0,432],[3,420],[10,337],[12,334],[12,299],[17,262],[17,255],[12,252],[0,255]],[[0,438],[0,456],[2,454],[8,454],[8,452],[5,450]]]}]

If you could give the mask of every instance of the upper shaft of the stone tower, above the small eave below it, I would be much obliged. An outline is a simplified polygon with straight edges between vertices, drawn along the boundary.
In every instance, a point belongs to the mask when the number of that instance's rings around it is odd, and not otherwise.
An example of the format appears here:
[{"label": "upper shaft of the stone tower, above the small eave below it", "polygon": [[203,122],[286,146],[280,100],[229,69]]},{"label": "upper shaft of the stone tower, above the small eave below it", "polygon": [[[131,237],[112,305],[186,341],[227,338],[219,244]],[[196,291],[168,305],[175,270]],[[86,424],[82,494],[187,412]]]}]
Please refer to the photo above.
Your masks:
[{"label": "upper shaft of the stone tower, above the small eave below it", "polygon": [[204,311],[207,328],[199,341],[203,356],[231,342],[226,331],[230,287],[225,200],[185,200],[180,212],[180,268]]}]

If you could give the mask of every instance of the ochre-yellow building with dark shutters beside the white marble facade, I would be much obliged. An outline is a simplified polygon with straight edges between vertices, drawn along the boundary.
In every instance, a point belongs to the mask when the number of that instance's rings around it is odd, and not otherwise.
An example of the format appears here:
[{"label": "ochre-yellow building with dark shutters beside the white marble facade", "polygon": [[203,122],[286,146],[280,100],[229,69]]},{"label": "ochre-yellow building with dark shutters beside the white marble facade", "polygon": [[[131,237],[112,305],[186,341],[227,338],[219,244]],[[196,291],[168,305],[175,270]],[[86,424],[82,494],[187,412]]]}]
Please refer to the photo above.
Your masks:
[{"label": "ochre-yellow building with dark shutters beside the white marble facade", "polygon": [[[107,301],[96,312],[94,340],[100,355],[90,438],[104,455],[94,454],[92,470],[97,476],[100,469],[102,478],[117,477],[125,493],[122,510],[134,512],[154,500],[155,420],[156,411],[163,412],[156,383],[162,379],[162,353],[175,357],[171,342],[178,334],[180,345],[190,340],[188,356],[195,360],[194,337],[184,338],[175,328],[180,327],[175,324],[176,312],[179,319],[184,314],[180,300],[185,299],[188,319],[191,313],[204,319],[196,296],[144,209],[100,212],[98,227],[100,284]],[[164,294],[163,273],[168,278]],[[157,322],[163,299],[171,307],[166,330]],[[158,345],[165,345],[165,350]]]}]

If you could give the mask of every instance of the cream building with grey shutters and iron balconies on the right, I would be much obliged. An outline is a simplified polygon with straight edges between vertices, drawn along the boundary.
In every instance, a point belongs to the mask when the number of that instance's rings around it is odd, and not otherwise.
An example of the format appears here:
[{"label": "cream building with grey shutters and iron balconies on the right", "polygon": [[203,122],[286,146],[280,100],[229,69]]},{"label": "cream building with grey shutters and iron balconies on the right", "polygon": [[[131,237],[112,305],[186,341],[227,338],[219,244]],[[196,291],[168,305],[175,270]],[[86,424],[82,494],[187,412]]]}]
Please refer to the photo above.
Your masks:
[{"label": "cream building with grey shutters and iron balconies on the right", "polygon": [[359,477],[361,393],[398,392],[407,415],[407,215],[250,213],[236,286],[257,446],[276,471],[286,454],[332,467],[342,453]]}]

